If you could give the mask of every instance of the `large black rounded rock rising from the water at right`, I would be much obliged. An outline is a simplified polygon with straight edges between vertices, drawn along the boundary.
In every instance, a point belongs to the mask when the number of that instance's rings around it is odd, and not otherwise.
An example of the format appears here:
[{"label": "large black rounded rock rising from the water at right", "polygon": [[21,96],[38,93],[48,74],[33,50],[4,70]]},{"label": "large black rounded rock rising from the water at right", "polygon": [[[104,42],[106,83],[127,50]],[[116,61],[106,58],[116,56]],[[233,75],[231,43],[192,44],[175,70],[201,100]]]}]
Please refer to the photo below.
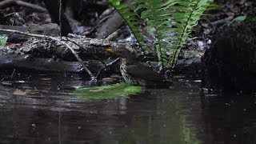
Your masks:
[{"label": "large black rounded rock rising from the water at right", "polygon": [[[255,14],[254,14],[255,15]],[[233,23],[219,31],[202,57],[202,87],[214,92],[256,90],[256,21]]]}]

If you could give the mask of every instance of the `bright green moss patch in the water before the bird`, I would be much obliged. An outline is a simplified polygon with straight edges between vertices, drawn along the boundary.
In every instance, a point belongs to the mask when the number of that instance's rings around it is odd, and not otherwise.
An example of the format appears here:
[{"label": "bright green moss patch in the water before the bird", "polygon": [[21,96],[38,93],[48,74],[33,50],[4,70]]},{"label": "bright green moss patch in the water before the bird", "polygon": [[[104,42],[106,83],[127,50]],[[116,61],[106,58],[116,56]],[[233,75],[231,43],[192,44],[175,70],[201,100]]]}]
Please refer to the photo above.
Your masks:
[{"label": "bright green moss patch in the water before the bird", "polygon": [[124,82],[107,86],[80,88],[74,91],[76,97],[89,99],[120,98],[142,93],[141,86],[130,86]]}]

